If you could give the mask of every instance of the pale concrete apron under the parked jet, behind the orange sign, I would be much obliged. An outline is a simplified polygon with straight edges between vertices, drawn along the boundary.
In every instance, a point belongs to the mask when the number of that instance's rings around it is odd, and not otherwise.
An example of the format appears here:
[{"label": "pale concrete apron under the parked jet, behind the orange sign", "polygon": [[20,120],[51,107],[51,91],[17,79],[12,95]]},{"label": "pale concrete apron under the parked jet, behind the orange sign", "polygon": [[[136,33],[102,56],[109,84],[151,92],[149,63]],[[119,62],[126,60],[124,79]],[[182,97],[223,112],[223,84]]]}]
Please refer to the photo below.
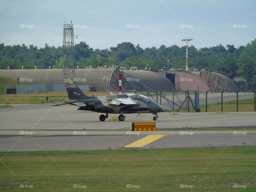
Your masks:
[{"label": "pale concrete apron under the parked jet, behind the orange sign", "polygon": [[[153,114],[126,114],[125,121],[99,121],[100,113],[77,111],[77,107],[50,104],[0,109],[1,130],[131,130],[132,122],[154,122]],[[109,114],[111,117],[113,114]],[[159,113],[157,129],[187,127],[236,127],[256,125],[256,112]],[[113,115],[114,116],[114,115]],[[117,114],[118,116],[118,114]]]}]

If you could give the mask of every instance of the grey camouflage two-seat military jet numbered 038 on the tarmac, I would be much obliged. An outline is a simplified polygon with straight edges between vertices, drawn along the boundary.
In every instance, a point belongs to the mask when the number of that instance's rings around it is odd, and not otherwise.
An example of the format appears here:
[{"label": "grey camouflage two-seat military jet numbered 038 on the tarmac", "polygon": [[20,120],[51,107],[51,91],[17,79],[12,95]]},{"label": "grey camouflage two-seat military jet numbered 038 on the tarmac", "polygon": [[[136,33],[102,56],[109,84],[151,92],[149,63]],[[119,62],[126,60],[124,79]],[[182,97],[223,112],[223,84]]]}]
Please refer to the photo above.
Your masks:
[{"label": "grey camouflage two-seat military jet numbered 038 on the tarmac", "polygon": [[108,114],[120,114],[119,121],[125,120],[123,114],[127,113],[152,113],[156,121],[159,112],[170,111],[171,109],[158,105],[150,98],[140,94],[117,94],[89,97],[85,95],[81,89],[75,84],[69,75],[63,75],[64,83],[67,89],[69,100],[64,100],[64,103],[52,105],[74,105],[79,107],[77,110],[94,111],[98,113],[106,113],[100,115],[99,120],[105,121]]}]

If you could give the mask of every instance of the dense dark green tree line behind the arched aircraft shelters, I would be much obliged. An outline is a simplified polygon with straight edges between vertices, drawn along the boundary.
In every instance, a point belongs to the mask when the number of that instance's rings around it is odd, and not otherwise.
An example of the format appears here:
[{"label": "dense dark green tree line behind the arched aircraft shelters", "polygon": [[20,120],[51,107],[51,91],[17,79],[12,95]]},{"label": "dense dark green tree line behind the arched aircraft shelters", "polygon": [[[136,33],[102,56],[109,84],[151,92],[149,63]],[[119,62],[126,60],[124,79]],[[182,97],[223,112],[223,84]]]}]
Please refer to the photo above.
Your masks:
[{"label": "dense dark green tree line behind the arched aircraft shelters", "polygon": [[[0,69],[62,69],[62,47],[49,46],[44,48],[25,44],[7,46],[0,44]],[[246,46],[217,45],[201,49],[189,46],[189,69],[205,69],[221,73],[235,81],[242,91],[254,91],[256,89],[256,39],[247,43]],[[79,68],[93,66],[93,68],[119,66],[137,67],[138,69],[151,68],[151,71],[161,69],[185,69],[186,46],[161,45],[143,49],[140,45],[131,42],[119,43],[109,49],[93,49],[86,42],[80,42],[74,46],[74,65]],[[164,68],[166,67],[166,68]],[[246,79],[246,81],[239,81]]]}]

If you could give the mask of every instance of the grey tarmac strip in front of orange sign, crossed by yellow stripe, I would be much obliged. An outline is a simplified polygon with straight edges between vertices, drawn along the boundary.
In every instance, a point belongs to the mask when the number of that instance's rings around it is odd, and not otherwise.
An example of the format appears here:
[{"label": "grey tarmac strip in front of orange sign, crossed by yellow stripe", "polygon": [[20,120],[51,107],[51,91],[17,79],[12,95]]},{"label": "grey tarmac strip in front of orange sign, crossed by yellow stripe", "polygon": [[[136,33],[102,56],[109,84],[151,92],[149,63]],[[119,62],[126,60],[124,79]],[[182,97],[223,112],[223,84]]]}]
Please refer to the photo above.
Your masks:
[{"label": "grey tarmac strip in front of orange sign, crossed by yellow stripe", "polygon": [[[229,131],[229,133],[222,133],[222,131],[215,131],[215,133],[200,132],[194,131],[192,135],[184,135],[179,132],[176,134],[170,133],[143,147],[132,149],[256,147],[255,131],[246,131],[245,135],[234,135],[233,131]],[[22,138],[13,136],[1,136],[1,151],[125,150],[131,148],[124,148],[124,146],[142,139],[146,135],[53,135]]]}]

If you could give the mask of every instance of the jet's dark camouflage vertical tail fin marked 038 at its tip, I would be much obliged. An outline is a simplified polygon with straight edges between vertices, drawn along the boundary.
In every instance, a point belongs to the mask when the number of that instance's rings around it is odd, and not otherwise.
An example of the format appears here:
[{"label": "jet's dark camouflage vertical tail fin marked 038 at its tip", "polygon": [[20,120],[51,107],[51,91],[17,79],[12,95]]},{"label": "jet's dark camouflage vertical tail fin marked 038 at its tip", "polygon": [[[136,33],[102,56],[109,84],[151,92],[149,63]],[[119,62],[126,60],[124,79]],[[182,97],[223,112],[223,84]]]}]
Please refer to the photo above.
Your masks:
[{"label": "jet's dark camouflage vertical tail fin marked 038 at its tip", "polygon": [[75,84],[73,79],[69,75],[63,75],[64,83],[67,89],[67,94],[69,95],[69,99],[92,99],[81,91],[81,89]]}]

